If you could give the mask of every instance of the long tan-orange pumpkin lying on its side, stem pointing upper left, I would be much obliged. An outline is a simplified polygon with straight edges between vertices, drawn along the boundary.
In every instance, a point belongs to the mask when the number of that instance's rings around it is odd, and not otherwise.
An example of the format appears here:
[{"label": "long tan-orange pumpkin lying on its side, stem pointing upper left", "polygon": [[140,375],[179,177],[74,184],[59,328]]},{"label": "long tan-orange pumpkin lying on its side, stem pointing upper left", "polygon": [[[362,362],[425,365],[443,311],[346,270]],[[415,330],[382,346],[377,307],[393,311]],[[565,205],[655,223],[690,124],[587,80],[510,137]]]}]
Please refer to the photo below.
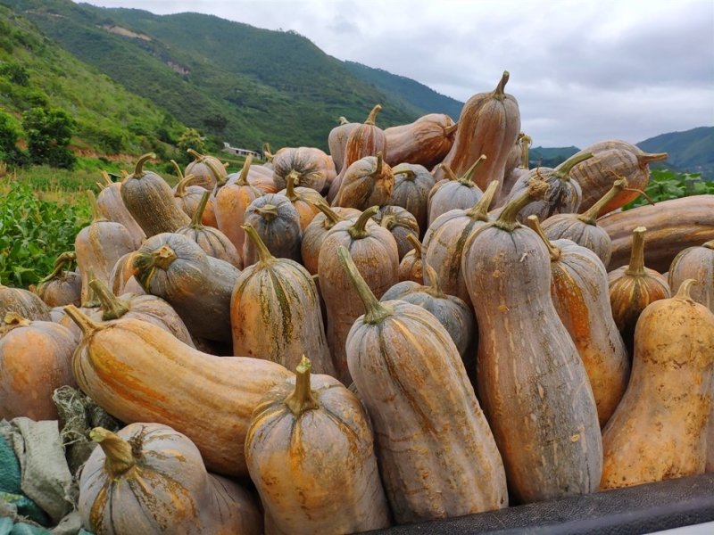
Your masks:
[{"label": "long tan-orange pumpkin lying on its side, stem pointing upper left", "polygon": [[84,333],[72,361],[82,391],[122,422],[186,434],[210,471],[248,474],[237,445],[265,392],[292,372],[260,358],[214,357],[138,319],[99,325],[72,305],[66,310]]}]

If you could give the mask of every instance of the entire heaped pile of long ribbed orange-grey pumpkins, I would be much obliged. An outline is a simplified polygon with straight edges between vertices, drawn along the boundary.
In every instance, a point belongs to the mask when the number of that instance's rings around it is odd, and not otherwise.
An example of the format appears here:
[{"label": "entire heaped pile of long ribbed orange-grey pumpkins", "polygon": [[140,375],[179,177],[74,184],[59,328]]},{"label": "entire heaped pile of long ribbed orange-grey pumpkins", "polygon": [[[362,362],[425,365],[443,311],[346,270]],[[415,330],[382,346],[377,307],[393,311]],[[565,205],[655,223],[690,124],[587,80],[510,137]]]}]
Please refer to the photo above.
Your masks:
[{"label": "entire heaped pile of long ribbed orange-grey pumpkins", "polygon": [[127,424],[90,433],[87,530],[351,533],[714,469],[714,196],[618,210],[667,156],[619,140],[529,169],[507,80],[329,154],[194,152],[173,190],[147,154],[0,287],[0,417],[70,384]]}]

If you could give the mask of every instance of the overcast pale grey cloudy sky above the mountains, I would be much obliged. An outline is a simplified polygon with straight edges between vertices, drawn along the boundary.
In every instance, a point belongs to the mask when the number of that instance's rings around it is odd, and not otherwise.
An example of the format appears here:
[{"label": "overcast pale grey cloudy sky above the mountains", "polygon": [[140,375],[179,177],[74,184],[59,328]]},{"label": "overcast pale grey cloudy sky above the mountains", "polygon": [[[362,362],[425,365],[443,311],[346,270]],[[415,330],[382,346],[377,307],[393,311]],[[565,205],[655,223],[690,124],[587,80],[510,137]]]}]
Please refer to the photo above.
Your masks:
[{"label": "overcast pale grey cloudy sky above the mountains", "polygon": [[[503,70],[534,146],[714,126],[714,0],[91,1],[293,29],[462,102]],[[454,118],[456,119],[456,118]]]}]

